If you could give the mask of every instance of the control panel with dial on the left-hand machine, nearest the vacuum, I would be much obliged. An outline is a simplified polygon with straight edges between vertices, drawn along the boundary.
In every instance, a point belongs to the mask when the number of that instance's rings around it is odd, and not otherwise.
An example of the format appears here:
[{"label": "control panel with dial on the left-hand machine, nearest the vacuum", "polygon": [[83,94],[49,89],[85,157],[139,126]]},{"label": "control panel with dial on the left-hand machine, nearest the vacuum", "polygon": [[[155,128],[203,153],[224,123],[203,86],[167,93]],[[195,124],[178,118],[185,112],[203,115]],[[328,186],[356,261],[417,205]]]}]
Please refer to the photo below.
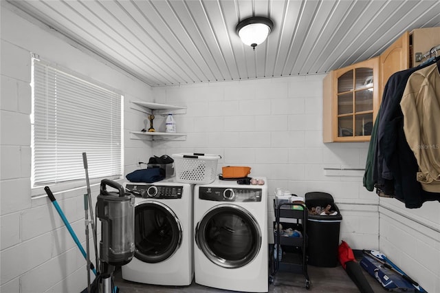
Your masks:
[{"label": "control panel with dial on the left-hand machine, nearest the vacuum", "polygon": [[153,184],[126,184],[125,188],[135,197],[156,199],[179,199],[184,190],[184,186]]}]

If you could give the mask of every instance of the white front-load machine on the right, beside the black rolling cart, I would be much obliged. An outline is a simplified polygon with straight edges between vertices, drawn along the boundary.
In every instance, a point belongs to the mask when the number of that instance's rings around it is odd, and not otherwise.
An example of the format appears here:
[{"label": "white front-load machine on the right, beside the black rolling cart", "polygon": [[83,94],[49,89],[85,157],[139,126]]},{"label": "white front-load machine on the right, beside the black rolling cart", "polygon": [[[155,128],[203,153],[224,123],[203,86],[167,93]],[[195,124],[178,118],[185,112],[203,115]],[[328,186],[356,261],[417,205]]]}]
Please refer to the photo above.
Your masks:
[{"label": "white front-load machine on the right, beside the black rolling cart", "polygon": [[195,283],[267,292],[267,186],[215,180],[194,197]]}]

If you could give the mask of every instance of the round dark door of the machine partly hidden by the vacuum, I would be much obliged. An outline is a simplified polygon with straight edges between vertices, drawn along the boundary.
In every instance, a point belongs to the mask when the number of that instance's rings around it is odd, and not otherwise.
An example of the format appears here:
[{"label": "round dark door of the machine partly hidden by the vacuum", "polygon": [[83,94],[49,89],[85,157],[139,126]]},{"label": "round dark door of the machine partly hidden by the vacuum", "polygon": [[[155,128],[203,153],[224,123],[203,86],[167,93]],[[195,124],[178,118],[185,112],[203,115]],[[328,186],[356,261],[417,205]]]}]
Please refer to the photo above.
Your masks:
[{"label": "round dark door of the machine partly hidden by the vacuum", "polygon": [[171,257],[181,244],[181,224],[173,210],[147,200],[135,206],[135,257],[158,263]]}]

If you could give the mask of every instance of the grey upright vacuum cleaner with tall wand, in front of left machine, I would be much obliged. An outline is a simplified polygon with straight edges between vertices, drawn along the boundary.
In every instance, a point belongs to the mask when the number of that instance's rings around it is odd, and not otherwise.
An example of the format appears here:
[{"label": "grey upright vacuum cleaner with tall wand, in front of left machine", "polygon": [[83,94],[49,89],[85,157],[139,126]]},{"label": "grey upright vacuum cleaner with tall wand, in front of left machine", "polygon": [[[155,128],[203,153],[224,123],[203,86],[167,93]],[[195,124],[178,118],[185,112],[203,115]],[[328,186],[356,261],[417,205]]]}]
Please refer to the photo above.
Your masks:
[{"label": "grey upright vacuum cleaner with tall wand, in front of left machine", "polygon": [[[96,199],[96,217],[101,221],[101,240],[99,243],[99,263],[98,246],[96,235],[96,219],[93,219],[93,209],[91,208],[91,191],[89,183],[89,172],[87,170],[87,154],[83,153],[85,177],[87,182],[87,195],[85,195],[85,224],[87,236],[87,292],[88,293],[118,293],[119,289],[113,285],[113,272],[115,266],[125,265],[133,259],[135,254],[135,197],[126,193],[124,187],[117,182],[104,179],[101,180],[100,194]],[[107,186],[114,188],[115,191],[107,191]],[[87,199],[91,215],[91,220],[87,219]],[[89,258],[89,233],[88,226],[94,232],[94,244],[96,253],[96,263],[100,272],[96,274],[96,279],[90,284],[91,261]]]}]

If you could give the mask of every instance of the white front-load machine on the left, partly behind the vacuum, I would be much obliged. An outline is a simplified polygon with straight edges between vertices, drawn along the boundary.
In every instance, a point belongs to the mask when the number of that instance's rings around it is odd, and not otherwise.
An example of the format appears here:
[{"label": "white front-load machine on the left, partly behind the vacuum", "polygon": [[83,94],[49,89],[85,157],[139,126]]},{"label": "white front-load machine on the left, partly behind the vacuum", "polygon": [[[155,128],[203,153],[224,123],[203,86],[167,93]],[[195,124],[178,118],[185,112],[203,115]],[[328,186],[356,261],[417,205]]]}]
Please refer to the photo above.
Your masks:
[{"label": "white front-load machine on the left, partly behind the vacuum", "polygon": [[135,195],[135,255],[122,279],[154,285],[190,285],[194,277],[193,184],[174,178],[126,183]]}]

